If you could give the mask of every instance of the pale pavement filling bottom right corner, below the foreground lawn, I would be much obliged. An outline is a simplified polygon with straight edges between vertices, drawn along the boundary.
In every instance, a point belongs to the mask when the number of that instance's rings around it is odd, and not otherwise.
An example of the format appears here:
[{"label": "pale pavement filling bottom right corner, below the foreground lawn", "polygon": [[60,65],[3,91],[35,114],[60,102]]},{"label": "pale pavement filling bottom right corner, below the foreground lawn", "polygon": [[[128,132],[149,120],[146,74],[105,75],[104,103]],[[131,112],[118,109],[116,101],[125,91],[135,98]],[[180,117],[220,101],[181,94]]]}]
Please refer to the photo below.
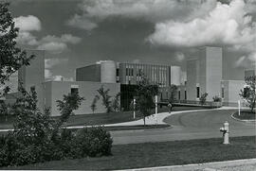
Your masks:
[{"label": "pale pavement filling bottom right corner, below the foreground lawn", "polygon": [[[127,170],[127,169],[126,169]],[[128,171],[255,171],[256,159],[128,169]]]}]

